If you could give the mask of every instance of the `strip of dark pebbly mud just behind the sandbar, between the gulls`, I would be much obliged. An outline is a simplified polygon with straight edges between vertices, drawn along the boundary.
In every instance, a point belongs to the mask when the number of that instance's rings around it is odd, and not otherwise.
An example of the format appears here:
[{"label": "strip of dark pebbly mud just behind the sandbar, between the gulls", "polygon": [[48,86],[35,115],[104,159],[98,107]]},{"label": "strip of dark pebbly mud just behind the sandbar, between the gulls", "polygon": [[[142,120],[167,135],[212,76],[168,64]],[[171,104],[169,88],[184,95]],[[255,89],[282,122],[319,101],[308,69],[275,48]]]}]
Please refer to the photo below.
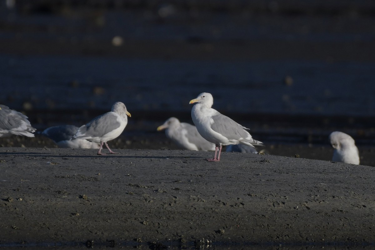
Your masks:
[{"label": "strip of dark pebbly mud just behind the sandbar, between the gulls", "polygon": [[[259,138],[259,136],[254,138]],[[328,139],[326,144],[314,143],[287,143],[265,142],[257,150],[269,155],[300,157],[311,160],[331,161],[333,148],[329,145]],[[124,132],[118,138],[109,142],[111,148],[120,150],[180,150],[174,142],[166,138],[164,132],[158,133],[135,133]],[[20,148],[58,148],[58,146],[45,136],[36,135],[34,138],[26,136],[12,136],[10,138],[0,138],[0,148],[20,147]],[[360,165],[375,166],[375,148],[371,145],[357,145],[360,155]],[[224,150],[225,151],[225,148]],[[95,153],[95,152],[94,152]],[[209,153],[207,153],[209,154]]]}]

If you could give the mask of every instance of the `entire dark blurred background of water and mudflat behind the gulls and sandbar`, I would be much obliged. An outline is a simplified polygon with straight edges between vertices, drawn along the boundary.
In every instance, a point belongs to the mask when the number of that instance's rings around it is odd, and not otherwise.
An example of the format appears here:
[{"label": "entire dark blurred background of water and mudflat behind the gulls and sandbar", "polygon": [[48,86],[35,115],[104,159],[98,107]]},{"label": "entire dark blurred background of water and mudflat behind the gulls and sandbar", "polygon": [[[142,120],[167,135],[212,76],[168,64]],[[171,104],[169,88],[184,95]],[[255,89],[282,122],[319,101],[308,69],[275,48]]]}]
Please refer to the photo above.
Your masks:
[{"label": "entire dark blurred background of water and mudflat behind the gulls and sandbar", "polygon": [[210,92],[266,153],[330,160],[338,130],[375,165],[373,0],[1,0],[0,62],[0,103],[38,131],[121,101],[113,148],[174,149],[156,127]]}]

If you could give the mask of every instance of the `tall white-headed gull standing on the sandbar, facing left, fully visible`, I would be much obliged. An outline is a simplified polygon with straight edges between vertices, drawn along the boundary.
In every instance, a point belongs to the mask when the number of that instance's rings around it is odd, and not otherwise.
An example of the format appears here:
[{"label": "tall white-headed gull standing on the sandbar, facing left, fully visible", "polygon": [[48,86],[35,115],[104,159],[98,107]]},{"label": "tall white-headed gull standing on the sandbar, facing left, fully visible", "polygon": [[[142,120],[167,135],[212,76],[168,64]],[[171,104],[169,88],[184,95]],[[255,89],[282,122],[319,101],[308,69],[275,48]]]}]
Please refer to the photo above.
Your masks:
[{"label": "tall white-headed gull standing on the sandbar, facing left, fully visible", "polygon": [[[246,127],[211,108],[213,97],[210,93],[201,93],[189,103],[196,103],[191,110],[191,118],[199,134],[216,146],[214,158],[207,160],[219,161],[223,145],[239,143],[251,147],[254,147],[253,144],[263,145],[263,142],[251,137],[249,132],[245,130]],[[217,150],[219,150],[219,154],[216,158]]]}]

